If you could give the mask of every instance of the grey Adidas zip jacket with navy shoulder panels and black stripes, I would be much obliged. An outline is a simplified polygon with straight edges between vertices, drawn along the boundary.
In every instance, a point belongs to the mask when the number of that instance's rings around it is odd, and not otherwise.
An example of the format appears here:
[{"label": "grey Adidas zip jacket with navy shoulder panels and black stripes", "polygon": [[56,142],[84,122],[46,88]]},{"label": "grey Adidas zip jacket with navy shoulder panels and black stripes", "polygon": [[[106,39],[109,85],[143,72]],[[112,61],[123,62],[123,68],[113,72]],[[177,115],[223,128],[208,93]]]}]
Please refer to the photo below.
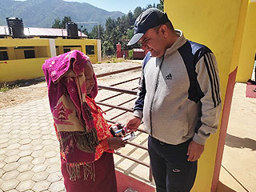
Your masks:
[{"label": "grey Adidas zip jacket with navy shoulder panels and black stripes", "polygon": [[180,37],[162,58],[144,58],[134,116],[162,142],[193,138],[204,145],[222,109],[217,62],[209,48],[176,32]]}]

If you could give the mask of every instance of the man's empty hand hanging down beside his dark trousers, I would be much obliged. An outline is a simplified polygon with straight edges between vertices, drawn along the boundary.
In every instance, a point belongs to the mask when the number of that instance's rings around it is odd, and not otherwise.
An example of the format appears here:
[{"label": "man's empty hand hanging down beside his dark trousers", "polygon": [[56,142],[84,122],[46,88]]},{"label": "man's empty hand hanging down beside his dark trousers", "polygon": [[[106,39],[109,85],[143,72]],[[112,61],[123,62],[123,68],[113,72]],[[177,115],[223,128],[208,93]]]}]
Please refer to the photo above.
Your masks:
[{"label": "man's empty hand hanging down beside his dark trousers", "polygon": [[187,161],[195,162],[200,158],[203,150],[205,150],[205,146],[198,144],[197,142],[191,141],[187,150]]}]

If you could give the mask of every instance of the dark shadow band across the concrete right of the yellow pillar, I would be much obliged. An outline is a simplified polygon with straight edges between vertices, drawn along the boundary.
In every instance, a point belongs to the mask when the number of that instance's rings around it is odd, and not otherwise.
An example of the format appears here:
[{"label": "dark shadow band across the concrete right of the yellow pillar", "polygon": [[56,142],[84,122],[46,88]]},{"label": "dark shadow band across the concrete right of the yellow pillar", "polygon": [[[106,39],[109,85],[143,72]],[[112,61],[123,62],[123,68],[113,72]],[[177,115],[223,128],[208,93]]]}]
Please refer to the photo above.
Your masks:
[{"label": "dark shadow band across the concrete right of the yellow pillar", "polygon": [[226,134],[226,146],[256,150],[256,141],[251,138],[238,138],[234,135]]}]

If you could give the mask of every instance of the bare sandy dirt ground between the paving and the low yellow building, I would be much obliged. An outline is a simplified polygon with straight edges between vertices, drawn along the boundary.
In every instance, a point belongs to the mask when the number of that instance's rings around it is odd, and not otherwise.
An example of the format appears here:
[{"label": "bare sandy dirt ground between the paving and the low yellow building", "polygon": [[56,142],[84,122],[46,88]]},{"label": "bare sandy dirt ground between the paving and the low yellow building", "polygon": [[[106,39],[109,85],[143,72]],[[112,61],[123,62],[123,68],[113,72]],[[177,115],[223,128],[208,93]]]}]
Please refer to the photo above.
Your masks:
[{"label": "bare sandy dirt ground between the paving and the low yellow building", "polygon": [[[136,62],[118,62],[118,63],[101,63],[94,64],[95,74],[104,74],[112,72],[115,70],[123,70],[134,66],[141,66],[140,61]],[[131,75],[134,70],[126,72],[127,75]],[[114,81],[114,75],[108,77],[98,78],[98,84],[108,85],[107,82],[111,78],[111,81]],[[117,79],[118,80],[118,79]],[[114,81],[116,82],[116,81]],[[20,103],[28,102],[31,100],[36,100],[38,98],[44,98],[47,96],[47,86],[46,82],[42,79],[40,80],[31,80],[26,83],[23,83],[22,86],[8,90],[5,92],[0,92],[0,109],[18,105]]]}]

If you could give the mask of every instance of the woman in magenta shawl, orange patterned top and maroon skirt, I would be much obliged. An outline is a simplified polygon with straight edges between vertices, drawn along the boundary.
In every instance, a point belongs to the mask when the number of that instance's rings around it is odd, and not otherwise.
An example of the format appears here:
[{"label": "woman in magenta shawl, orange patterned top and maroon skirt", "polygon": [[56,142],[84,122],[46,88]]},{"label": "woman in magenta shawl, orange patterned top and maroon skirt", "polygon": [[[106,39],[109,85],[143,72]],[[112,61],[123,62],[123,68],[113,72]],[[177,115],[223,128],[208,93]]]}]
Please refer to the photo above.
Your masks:
[{"label": "woman in magenta shawl, orange patterned top and maroon skirt", "polygon": [[66,191],[117,191],[113,152],[126,142],[112,136],[94,102],[98,86],[90,59],[73,50],[47,59],[42,69]]}]

